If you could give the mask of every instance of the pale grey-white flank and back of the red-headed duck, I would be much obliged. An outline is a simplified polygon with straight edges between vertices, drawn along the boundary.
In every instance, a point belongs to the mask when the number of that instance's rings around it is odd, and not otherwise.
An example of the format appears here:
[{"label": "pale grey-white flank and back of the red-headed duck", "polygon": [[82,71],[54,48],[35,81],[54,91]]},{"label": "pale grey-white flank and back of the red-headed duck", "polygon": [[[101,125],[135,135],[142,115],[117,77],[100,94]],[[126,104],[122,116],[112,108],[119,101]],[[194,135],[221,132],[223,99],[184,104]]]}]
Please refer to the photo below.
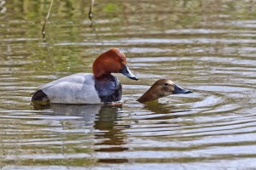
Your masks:
[{"label": "pale grey-white flank and back of the red-headed duck", "polygon": [[92,74],[77,73],[49,82],[40,89],[55,104],[101,104],[94,85]]}]

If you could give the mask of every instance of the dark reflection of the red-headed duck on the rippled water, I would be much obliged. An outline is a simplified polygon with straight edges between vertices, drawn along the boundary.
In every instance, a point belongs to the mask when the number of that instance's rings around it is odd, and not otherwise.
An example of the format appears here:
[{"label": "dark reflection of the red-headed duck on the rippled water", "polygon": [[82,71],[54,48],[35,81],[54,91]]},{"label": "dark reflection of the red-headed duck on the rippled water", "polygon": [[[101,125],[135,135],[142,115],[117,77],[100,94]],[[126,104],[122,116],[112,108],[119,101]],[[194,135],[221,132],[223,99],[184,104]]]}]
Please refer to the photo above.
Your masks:
[{"label": "dark reflection of the red-headed duck on the rippled water", "polygon": [[[36,105],[34,105],[36,106]],[[86,130],[94,135],[94,151],[96,152],[120,152],[128,150],[124,147],[127,126],[118,125],[120,107],[109,105],[48,105],[35,108],[36,110],[50,109],[55,116],[78,116],[84,121]],[[79,119],[80,121],[80,119]],[[83,126],[83,125],[82,125]],[[84,127],[83,127],[84,128]],[[100,162],[127,162],[127,159],[97,159]]]}]

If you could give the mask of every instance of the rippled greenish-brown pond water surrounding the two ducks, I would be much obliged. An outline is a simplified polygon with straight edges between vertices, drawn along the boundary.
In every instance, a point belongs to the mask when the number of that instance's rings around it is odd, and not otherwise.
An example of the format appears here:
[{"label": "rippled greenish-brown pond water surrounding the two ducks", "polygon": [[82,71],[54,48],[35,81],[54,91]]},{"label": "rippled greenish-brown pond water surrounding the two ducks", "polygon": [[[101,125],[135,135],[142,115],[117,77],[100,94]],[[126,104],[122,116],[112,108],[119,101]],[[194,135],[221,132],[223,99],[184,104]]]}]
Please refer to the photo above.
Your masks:
[{"label": "rippled greenish-brown pond water surrounding the two ducks", "polygon": [[[256,167],[256,5],[252,1],[0,1],[2,169],[253,169]],[[109,48],[139,81],[121,108],[34,108],[46,82],[91,72]],[[136,101],[171,78],[193,94]]]}]

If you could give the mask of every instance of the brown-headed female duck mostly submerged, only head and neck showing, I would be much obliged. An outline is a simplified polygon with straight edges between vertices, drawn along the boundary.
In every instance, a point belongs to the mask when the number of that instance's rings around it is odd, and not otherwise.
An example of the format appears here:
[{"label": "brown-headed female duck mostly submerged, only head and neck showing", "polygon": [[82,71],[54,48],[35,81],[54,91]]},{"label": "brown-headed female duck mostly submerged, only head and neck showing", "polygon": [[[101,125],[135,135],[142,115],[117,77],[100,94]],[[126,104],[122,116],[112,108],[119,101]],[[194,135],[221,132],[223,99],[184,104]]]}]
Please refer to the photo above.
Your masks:
[{"label": "brown-headed female duck mostly submerged, only head and neck showing", "polygon": [[190,94],[190,93],[192,93],[192,91],[178,87],[170,79],[160,79],[154,82],[151,88],[149,88],[145,94],[143,94],[139,99],[137,99],[137,101],[141,103],[145,103],[148,101],[160,99],[170,94]]}]

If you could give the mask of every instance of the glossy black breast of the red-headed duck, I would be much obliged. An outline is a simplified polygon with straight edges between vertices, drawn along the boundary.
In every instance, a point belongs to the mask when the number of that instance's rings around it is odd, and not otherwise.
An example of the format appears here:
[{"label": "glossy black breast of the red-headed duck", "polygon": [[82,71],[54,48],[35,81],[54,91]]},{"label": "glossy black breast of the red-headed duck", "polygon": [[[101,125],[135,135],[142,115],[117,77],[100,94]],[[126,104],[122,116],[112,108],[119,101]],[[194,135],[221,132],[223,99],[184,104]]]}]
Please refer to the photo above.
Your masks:
[{"label": "glossy black breast of the red-headed duck", "polygon": [[122,98],[122,86],[116,77],[108,81],[95,81],[95,88],[102,102],[119,101]]}]

